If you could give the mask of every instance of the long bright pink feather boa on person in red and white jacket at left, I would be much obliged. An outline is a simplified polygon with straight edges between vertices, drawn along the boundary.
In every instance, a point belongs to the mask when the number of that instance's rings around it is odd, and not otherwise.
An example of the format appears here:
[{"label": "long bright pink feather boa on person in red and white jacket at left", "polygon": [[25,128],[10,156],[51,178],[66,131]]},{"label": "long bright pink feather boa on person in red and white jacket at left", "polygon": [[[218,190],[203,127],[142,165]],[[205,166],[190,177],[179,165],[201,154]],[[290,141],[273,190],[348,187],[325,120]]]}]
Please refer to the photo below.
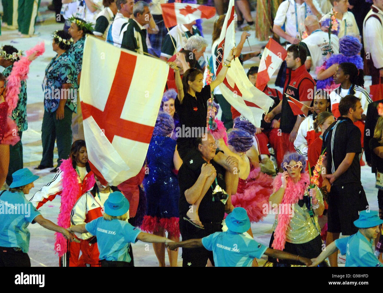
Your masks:
[{"label": "long bright pink feather boa on person in red and white jacket at left", "polygon": [[[69,228],[70,226],[70,212],[77,199],[83,195],[83,193],[90,190],[95,184],[95,177],[92,174],[90,178],[86,178],[85,187],[82,188],[79,183],[79,176],[75,169],[73,169],[72,159],[62,160],[59,169],[64,172],[62,175],[62,193],[61,193],[61,206],[60,213],[57,218],[57,225],[63,228]],[[56,242],[54,243],[54,249],[59,253],[59,257],[67,252],[67,240],[61,233],[56,232]]]}]

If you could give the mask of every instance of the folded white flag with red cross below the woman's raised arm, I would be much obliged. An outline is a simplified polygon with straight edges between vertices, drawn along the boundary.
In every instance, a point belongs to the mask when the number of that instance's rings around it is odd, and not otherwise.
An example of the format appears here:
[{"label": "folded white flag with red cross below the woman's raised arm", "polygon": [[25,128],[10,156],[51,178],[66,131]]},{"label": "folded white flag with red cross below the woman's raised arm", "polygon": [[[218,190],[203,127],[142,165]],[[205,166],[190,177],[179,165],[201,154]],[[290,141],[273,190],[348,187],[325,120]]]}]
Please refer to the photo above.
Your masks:
[{"label": "folded white flag with red cross below the woman's raised arm", "polygon": [[[230,50],[236,46],[234,36],[234,0],[230,0],[219,37],[217,57],[213,61],[216,76],[223,68],[222,63],[228,58]],[[272,98],[252,85],[238,58],[231,62],[231,67],[223,83],[219,85],[219,89],[229,104],[256,127],[260,127],[262,115],[268,113],[269,108],[274,104]]]}]

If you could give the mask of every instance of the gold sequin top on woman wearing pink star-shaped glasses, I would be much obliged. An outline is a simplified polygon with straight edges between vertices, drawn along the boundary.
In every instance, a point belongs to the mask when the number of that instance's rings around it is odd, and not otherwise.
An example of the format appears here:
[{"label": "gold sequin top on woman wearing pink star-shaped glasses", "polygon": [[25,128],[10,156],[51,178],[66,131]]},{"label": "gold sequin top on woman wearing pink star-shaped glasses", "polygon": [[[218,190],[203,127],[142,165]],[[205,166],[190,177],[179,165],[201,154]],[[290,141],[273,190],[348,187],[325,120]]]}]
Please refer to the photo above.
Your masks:
[{"label": "gold sequin top on woman wearing pink star-shaped glasses", "polygon": [[[316,189],[316,198],[323,205],[323,195],[318,187]],[[306,190],[305,195],[308,195]],[[293,244],[306,243],[313,240],[321,234],[321,228],[318,224],[318,216],[314,213],[314,217],[310,218],[309,210],[306,205],[301,208],[298,203],[291,207],[290,224],[286,230],[286,241]],[[275,216],[273,230],[278,224],[278,215]]]}]

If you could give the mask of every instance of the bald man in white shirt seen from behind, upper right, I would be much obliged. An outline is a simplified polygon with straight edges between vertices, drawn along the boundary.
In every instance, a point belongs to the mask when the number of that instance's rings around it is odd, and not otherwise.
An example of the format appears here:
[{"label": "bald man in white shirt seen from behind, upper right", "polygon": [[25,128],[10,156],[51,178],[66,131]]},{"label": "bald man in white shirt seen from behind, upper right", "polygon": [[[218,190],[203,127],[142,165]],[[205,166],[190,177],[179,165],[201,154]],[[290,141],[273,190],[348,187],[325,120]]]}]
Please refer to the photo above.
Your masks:
[{"label": "bald man in white shirt seen from behind, upper right", "polygon": [[314,15],[308,15],[305,18],[304,28],[309,35],[301,42],[301,45],[307,50],[307,59],[304,65],[313,79],[316,80],[315,69],[323,64],[327,53],[339,53],[339,39],[335,34],[331,34],[330,44],[329,34],[321,30],[318,18]]}]

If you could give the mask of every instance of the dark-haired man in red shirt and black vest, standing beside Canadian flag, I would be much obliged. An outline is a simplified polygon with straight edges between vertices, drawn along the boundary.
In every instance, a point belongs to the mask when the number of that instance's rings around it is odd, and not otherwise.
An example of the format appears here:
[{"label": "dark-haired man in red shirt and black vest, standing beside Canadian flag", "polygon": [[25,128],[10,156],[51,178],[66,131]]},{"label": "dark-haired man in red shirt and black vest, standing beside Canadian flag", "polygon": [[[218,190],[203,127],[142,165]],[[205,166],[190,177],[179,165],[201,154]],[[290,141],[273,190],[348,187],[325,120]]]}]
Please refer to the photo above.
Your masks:
[{"label": "dark-haired man in red shirt and black vest, standing beside Canadian flag", "polygon": [[[277,144],[277,149],[275,149],[278,166],[282,163],[286,152],[295,152],[294,141],[296,134],[304,119],[304,115],[308,115],[308,107],[315,93],[315,82],[304,66],[306,57],[307,51],[303,46],[293,45],[288,47],[285,59],[287,70],[282,101],[264,118],[267,123],[270,123],[275,115],[281,113],[280,129],[278,129],[279,143]],[[293,113],[289,97],[300,101],[304,105],[301,108],[304,115],[295,115]]]}]

